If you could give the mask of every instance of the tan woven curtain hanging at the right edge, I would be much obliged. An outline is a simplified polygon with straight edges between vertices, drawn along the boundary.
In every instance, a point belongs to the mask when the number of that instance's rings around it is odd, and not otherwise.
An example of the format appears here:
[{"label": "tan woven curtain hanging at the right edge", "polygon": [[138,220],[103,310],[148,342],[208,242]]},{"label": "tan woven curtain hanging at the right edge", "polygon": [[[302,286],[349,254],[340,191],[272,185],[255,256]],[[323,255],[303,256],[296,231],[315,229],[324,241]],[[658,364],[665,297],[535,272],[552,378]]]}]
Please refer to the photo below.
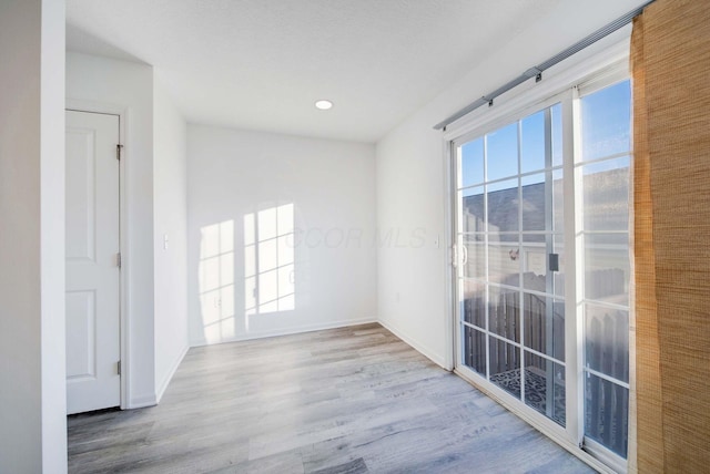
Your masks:
[{"label": "tan woven curtain hanging at the right edge", "polygon": [[[633,22],[630,471],[710,472],[710,1]],[[633,396],[636,395],[636,396]]]}]

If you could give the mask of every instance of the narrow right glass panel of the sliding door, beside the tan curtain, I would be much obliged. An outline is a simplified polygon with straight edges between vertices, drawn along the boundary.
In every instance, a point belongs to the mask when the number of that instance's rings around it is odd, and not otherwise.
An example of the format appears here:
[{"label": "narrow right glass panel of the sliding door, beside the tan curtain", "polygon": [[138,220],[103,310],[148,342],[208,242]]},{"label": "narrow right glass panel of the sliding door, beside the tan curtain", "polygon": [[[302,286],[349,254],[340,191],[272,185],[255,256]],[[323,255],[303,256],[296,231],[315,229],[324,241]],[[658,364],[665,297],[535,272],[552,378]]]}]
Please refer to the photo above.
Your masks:
[{"label": "narrow right glass panel of the sliding door, beside the tan curtain", "polygon": [[629,165],[631,90],[580,99],[585,436],[621,457],[629,409]]}]

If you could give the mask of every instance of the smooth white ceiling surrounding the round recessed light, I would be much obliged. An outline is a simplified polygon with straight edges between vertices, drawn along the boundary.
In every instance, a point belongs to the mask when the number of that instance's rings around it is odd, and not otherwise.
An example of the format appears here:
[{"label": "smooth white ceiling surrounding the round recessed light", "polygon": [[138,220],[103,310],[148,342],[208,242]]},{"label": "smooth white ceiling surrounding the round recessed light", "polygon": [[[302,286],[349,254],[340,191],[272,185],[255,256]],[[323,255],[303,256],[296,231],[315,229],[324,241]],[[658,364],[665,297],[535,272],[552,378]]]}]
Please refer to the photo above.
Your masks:
[{"label": "smooth white ceiling surrounding the round recessed light", "polygon": [[375,142],[560,1],[67,0],[67,48],[152,64],[192,123]]}]

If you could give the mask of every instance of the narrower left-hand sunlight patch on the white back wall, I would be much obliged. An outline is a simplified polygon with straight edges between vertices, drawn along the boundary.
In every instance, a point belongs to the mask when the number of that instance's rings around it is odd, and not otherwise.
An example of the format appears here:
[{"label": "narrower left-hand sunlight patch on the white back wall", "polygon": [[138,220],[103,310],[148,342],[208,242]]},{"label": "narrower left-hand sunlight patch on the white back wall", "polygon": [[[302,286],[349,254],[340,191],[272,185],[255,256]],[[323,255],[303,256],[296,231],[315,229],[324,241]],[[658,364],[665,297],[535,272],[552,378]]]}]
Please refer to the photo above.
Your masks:
[{"label": "narrower left-hand sunlight patch on the white back wall", "polygon": [[200,243],[200,306],[204,337],[210,342],[233,338],[234,220],[202,227]]}]

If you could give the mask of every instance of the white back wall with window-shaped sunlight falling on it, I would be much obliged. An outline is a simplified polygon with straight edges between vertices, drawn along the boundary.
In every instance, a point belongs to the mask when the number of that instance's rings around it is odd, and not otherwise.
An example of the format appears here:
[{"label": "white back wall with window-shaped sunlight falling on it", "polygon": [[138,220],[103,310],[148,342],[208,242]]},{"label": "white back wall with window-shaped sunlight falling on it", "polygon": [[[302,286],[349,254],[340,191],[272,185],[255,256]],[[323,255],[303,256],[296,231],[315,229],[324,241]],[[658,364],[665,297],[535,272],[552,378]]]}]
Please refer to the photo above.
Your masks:
[{"label": "white back wall with window-shaped sunlight falling on it", "polygon": [[[375,320],[374,171],[372,145],[190,124],[191,343]],[[246,318],[244,216],[290,203],[295,206],[296,226],[295,309]],[[201,245],[209,244],[202,241],[203,233],[219,223],[234,226],[233,238],[223,244],[229,264],[222,267],[222,285],[233,284],[235,290],[231,297],[226,288],[221,306],[205,293],[213,284],[204,279],[210,270],[200,261]],[[229,253],[232,246],[234,254]]]}]

